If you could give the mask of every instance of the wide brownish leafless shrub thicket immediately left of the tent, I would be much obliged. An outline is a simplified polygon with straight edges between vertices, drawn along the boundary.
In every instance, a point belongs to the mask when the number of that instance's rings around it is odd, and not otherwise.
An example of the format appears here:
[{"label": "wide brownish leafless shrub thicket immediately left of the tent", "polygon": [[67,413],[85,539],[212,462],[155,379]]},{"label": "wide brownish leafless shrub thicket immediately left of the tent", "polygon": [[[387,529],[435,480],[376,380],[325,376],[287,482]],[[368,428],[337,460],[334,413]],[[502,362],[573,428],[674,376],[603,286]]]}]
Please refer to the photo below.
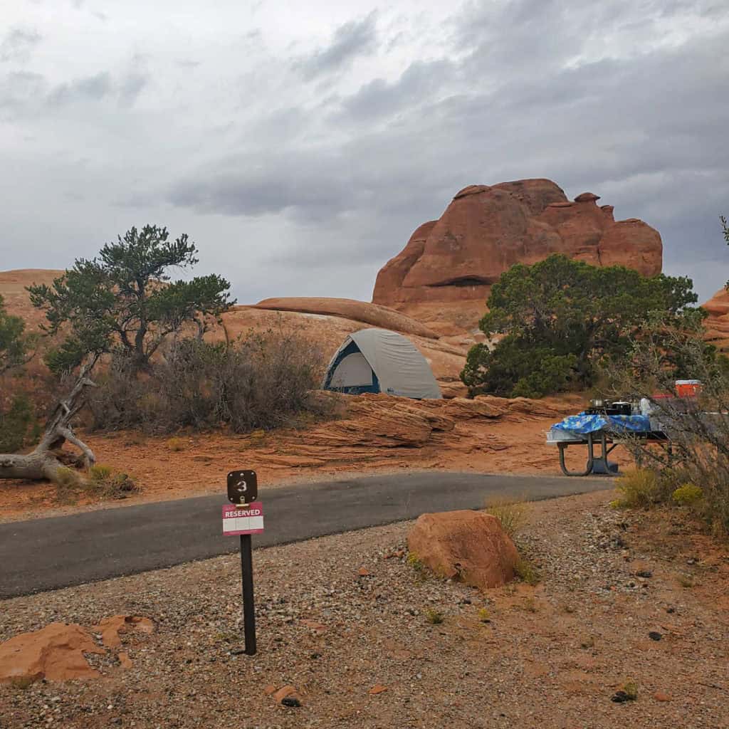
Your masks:
[{"label": "wide brownish leafless shrub thicket immediately left of the tent", "polygon": [[312,394],[320,373],[319,350],[296,332],[281,330],[231,345],[179,340],[146,373],[117,353],[91,395],[92,426],[169,433],[296,424],[324,407]]}]

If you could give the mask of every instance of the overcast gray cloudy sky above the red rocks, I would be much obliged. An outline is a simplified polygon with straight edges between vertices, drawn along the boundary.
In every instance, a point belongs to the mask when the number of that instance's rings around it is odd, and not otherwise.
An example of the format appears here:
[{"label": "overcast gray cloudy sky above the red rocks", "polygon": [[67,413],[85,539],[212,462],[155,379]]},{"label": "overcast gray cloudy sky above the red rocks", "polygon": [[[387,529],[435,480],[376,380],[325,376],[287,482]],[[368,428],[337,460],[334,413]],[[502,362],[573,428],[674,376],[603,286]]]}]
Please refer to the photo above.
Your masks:
[{"label": "overcast gray cloudy sky above the red rocks", "polygon": [[467,184],[548,177],[729,278],[726,0],[5,0],[0,269],[187,232],[241,303],[369,299]]}]

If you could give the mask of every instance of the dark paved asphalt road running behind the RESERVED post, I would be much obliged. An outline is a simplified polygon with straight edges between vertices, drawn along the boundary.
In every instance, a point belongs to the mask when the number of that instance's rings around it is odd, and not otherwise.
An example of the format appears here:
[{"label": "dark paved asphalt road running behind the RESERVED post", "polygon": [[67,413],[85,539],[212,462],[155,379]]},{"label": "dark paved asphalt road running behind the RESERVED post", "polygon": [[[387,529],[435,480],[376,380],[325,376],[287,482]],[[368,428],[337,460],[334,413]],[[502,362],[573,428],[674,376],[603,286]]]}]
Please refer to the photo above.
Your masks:
[{"label": "dark paved asphalt road running behind the RESERVED post", "polygon": [[[548,499],[609,488],[605,478],[408,472],[260,489],[256,547],[483,507],[487,496]],[[225,496],[139,504],[0,524],[0,598],[79,585],[238,549],[222,536]]]}]

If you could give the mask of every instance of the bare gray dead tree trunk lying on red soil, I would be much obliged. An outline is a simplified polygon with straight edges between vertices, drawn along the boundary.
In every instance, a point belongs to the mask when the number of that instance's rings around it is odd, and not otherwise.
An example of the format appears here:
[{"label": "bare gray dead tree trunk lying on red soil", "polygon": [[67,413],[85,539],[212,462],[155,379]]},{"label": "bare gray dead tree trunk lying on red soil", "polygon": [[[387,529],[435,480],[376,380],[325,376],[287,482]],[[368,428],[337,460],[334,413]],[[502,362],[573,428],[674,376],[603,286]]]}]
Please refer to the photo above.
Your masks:
[{"label": "bare gray dead tree trunk lying on red soil", "polygon": [[83,398],[85,389],[95,387],[95,383],[86,376],[88,370],[88,367],[82,370],[69,395],[56,405],[48,418],[41,442],[32,453],[26,455],[0,453],[0,478],[57,481],[59,469],[63,468],[63,464],[58,459],[58,453],[66,440],[83,453],[87,468],[95,464],[96,457],[93,451],[82,440],[79,440],[71,428],[71,419],[85,404]]}]

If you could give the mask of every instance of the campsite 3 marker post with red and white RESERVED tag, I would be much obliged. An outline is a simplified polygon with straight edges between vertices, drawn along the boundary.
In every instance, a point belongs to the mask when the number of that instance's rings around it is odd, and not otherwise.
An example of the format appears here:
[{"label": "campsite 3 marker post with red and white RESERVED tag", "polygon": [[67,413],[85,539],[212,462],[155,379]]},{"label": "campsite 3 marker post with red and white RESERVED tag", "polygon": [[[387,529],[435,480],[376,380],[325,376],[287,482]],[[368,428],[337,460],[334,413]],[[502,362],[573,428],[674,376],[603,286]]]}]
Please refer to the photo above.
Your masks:
[{"label": "campsite 3 marker post with red and white RESERVED tag", "polygon": [[256,653],[256,611],[253,601],[253,554],[251,534],[263,531],[263,504],[257,502],[255,471],[231,471],[227,475],[227,496],[223,506],[223,534],[241,536],[241,583],[243,589],[243,636],[247,655]]}]

